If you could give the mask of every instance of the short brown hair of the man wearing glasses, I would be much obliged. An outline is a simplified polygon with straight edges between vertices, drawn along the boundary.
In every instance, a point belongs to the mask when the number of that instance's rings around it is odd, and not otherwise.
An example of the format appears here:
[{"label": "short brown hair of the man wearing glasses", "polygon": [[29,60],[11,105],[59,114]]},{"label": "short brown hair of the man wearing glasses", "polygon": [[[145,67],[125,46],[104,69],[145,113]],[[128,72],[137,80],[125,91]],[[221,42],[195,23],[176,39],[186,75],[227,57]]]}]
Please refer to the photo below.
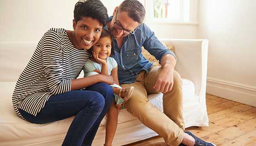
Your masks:
[{"label": "short brown hair of the man wearing glasses", "polygon": [[138,0],[124,0],[118,11],[128,12],[128,16],[138,23],[143,23],[145,18],[145,8]]}]

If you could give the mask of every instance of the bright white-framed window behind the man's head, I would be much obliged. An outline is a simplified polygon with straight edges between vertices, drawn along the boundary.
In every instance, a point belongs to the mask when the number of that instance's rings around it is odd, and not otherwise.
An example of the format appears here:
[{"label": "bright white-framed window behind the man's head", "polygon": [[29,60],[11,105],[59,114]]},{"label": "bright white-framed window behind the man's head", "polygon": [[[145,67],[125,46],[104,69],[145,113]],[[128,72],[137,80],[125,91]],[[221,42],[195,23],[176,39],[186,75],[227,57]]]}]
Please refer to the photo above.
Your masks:
[{"label": "bright white-framed window behind the man's head", "polygon": [[146,10],[147,23],[197,24],[198,0],[139,0]]}]

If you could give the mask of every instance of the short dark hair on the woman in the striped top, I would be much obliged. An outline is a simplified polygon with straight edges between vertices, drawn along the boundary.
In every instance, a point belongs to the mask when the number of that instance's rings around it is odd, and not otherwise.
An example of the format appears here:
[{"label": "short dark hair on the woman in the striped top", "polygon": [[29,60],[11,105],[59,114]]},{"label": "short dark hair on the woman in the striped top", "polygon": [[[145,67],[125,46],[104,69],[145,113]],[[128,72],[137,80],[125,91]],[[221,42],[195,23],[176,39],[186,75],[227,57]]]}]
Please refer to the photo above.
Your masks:
[{"label": "short dark hair on the woman in the striped top", "polygon": [[107,8],[99,0],[79,0],[74,9],[74,19],[77,23],[82,17],[92,17],[99,20],[103,26],[108,23]]}]

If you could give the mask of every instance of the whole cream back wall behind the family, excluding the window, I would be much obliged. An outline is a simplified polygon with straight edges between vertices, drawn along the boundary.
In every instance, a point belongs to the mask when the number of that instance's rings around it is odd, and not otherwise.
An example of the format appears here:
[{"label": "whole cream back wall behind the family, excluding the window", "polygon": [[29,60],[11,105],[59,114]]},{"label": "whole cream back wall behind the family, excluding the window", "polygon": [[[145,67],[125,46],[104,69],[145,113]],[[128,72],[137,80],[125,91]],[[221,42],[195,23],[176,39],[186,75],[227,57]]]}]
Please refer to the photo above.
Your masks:
[{"label": "whole cream back wall behind the family, excluding the window", "polygon": [[[0,42],[37,42],[49,28],[72,30],[78,0],[0,0]],[[102,0],[111,16],[122,0]],[[197,26],[149,25],[158,37],[196,38]]]}]

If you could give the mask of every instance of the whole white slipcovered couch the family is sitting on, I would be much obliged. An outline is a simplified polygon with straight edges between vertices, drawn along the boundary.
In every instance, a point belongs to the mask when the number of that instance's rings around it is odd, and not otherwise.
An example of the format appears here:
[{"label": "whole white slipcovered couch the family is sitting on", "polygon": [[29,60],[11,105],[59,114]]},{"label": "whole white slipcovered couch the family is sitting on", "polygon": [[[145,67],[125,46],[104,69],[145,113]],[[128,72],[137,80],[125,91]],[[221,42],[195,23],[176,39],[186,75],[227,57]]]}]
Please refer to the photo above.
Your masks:
[{"label": "whole white slipcovered couch the family is sitting on", "polygon": [[[185,126],[208,126],[206,76],[208,40],[161,39],[175,46],[176,71],[183,80]],[[0,146],[60,146],[73,117],[47,124],[33,124],[18,117],[12,108],[12,92],[37,42],[0,43]],[[162,94],[148,96],[163,111]],[[105,117],[106,118],[106,117]],[[105,123],[102,120],[93,146],[103,146]],[[126,109],[119,112],[114,146],[143,140],[157,134],[145,127]]]}]

